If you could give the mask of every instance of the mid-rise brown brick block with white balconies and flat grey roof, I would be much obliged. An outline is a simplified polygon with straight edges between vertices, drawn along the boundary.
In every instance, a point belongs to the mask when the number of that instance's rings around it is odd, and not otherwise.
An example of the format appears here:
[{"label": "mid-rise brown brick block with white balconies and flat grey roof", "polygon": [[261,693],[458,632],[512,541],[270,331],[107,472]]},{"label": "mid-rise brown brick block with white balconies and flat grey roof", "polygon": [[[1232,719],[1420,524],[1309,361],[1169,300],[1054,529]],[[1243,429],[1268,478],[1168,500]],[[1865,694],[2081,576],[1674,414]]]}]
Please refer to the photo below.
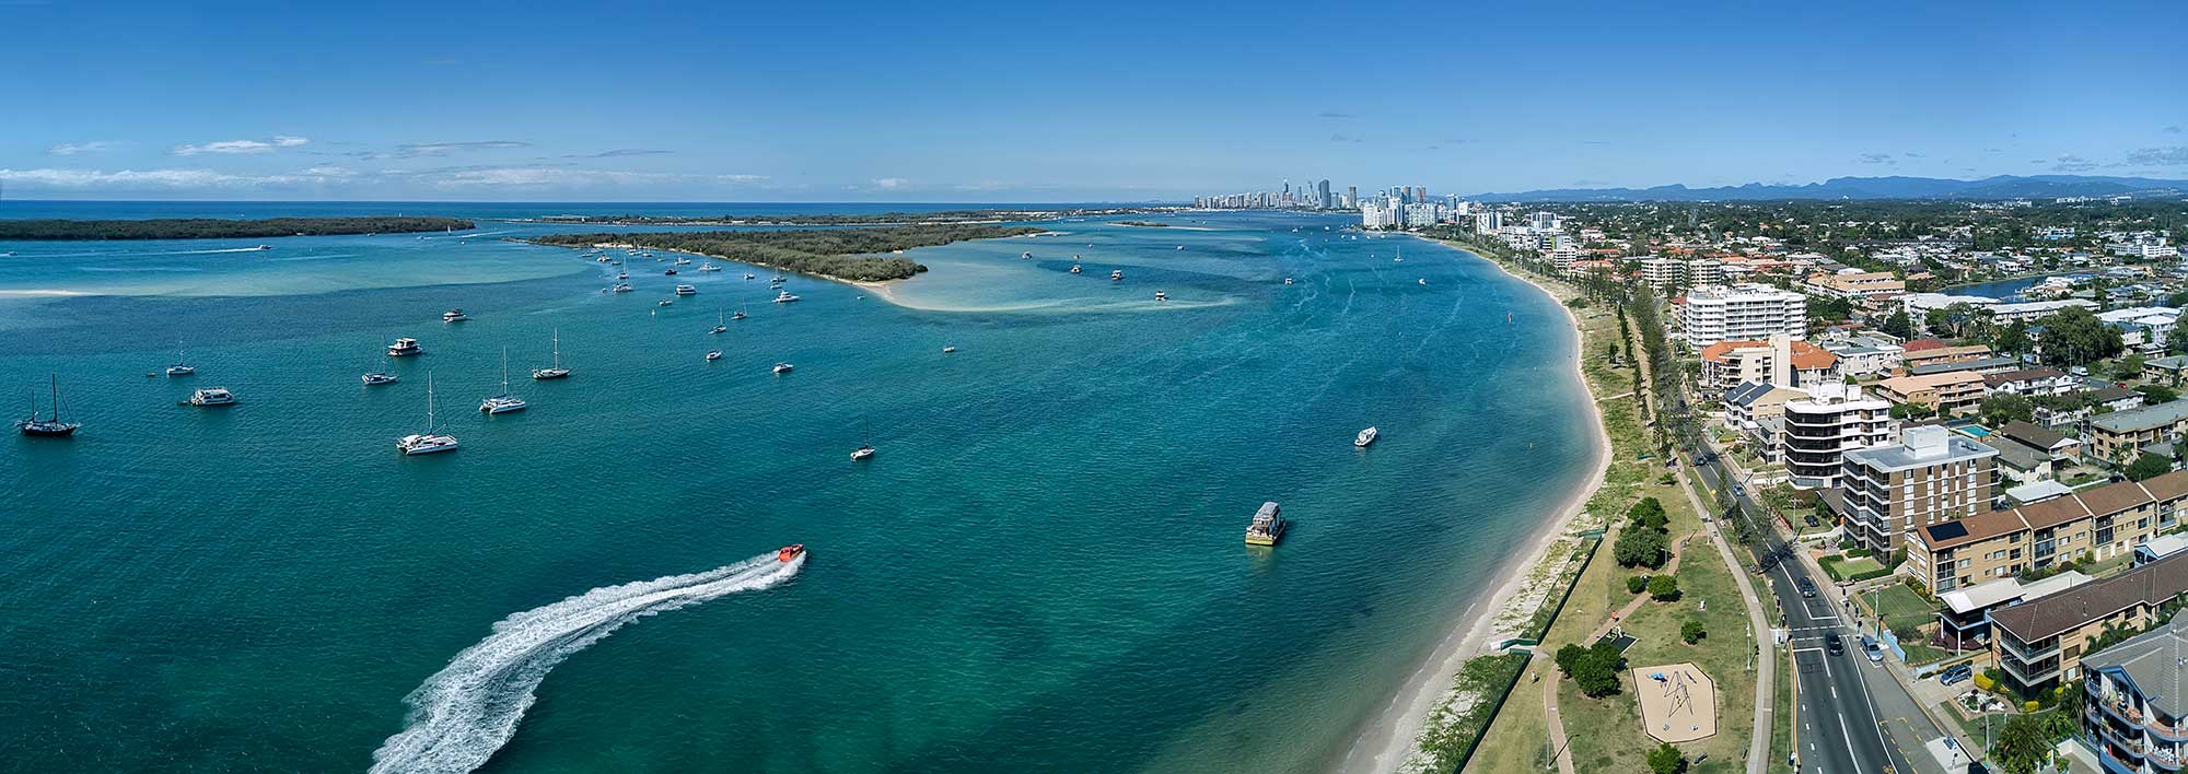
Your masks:
[{"label": "mid-rise brown brick block with white balconies and flat grey roof", "polygon": [[1847,536],[1875,555],[1908,529],[1991,509],[1995,448],[1943,426],[1910,426],[1899,444],[1844,453],[1838,492]]}]

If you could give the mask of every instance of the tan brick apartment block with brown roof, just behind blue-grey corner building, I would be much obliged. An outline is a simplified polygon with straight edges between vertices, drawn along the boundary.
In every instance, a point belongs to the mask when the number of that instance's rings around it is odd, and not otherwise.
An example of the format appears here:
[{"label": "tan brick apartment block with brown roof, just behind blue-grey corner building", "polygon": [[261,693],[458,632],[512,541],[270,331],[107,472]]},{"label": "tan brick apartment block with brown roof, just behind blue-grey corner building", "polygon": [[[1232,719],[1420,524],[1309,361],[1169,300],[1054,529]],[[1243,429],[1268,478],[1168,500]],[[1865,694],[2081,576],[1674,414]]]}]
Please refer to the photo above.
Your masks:
[{"label": "tan brick apartment block with brown roof, just behind blue-grey corner building", "polygon": [[2004,684],[2024,695],[2081,680],[2083,658],[2107,628],[2146,628],[2181,593],[2188,593],[2188,555],[1991,610],[1991,660],[2006,673]]}]

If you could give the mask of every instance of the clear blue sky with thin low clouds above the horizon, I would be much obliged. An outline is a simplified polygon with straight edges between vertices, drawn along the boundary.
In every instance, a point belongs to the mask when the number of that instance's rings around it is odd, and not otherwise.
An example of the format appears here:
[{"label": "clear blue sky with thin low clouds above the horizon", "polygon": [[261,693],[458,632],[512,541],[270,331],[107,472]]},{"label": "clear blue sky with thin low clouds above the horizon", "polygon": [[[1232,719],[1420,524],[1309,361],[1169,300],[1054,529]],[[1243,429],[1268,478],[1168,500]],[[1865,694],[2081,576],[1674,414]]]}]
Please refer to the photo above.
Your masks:
[{"label": "clear blue sky with thin low clouds above the horizon", "polygon": [[2188,177],[2177,2],[0,0],[13,199]]}]

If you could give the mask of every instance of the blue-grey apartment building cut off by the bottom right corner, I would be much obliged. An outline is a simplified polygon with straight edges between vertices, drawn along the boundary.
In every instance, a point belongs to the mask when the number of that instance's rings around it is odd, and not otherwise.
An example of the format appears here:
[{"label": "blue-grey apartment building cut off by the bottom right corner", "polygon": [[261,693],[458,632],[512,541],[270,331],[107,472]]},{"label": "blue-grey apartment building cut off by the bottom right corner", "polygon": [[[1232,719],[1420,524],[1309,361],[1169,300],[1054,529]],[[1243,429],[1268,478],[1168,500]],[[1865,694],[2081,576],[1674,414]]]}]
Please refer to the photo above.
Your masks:
[{"label": "blue-grey apartment building cut off by the bottom right corner", "polygon": [[2188,617],[2081,658],[2081,732],[2105,772],[2179,772],[2188,757]]}]

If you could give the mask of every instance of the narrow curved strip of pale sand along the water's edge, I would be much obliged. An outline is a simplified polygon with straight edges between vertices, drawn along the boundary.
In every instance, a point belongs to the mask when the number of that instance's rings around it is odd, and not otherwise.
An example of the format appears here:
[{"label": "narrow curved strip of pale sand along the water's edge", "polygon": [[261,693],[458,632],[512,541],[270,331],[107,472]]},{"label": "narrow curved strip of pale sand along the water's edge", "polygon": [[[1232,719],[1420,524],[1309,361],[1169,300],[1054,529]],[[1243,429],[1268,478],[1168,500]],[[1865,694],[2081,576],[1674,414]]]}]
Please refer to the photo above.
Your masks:
[{"label": "narrow curved strip of pale sand along the water's edge", "polygon": [[1543,295],[1549,295],[1549,300],[1564,310],[1573,341],[1571,374],[1580,383],[1580,391],[1588,398],[1588,418],[1593,429],[1591,442],[1595,446],[1595,455],[1591,457],[1593,470],[1564,496],[1556,516],[1543,523],[1529,542],[1529,551],[1514,555],[1497,568],[1497,577],[1503,577],[1503,582],[1497,584],[1497,588],[1486,597],[1468,603],[1453,630],[1444,634],[1442,643],[1438,643],[1435,652],[1431,652],[1413,676],[1405,680],[1383,713],[1361,730],[1352,748],[1346,752],[1339,772],[1411,770],[1409,763],[1413,763],[1420,752],[1420,735],[1429,728],[1429,717],[1459,693],[1455,691],[1459,667],[1464,667],[1466,660],[1486,654],[1483,647],[1488,645],[1488,638],[1497,634],[1497,612],[1510,606],[1512,599],[1527,588],[1532,577],[1529,568],[1543,564],[1551,549],[1567,538],[1573,523],[1586,512],[1588,501],[1597,490],[1602,490],[1604,477],[1610,468],[1610,435],[1604,431],[1604,413],[1599,407],[1602,396],[1595,394],[1595,387],[1588,383],[1588,374],[1582,370],[1582,359],[1586,356],[1586,332],[1580,326],[1580,315],[1564,304],[1569,293],[1560,293],[1553,286],[1536,282],[1534,278],[1514,273],[1510,267],[1475,254],[1464,245],[1446,241],[1431,243],[1457,249],[1475,260],[1497,267],[1497,271],[1503,271],[1508,278],[1521,280]]}]

